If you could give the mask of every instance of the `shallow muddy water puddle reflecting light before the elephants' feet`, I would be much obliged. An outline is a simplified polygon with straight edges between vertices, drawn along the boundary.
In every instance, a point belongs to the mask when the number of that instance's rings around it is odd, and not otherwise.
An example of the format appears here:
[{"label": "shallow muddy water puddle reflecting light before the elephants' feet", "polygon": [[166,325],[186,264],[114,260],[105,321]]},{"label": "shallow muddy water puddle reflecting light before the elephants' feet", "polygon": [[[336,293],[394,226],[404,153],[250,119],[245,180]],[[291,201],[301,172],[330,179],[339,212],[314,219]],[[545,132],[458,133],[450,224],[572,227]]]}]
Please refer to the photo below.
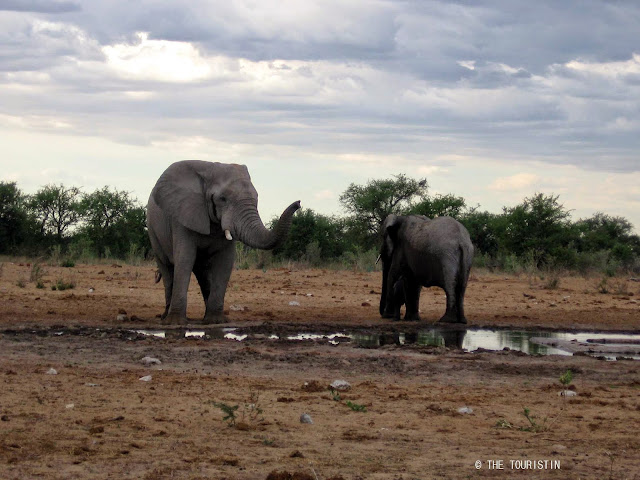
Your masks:
[{"label": "shallow muddy water puddle reflecting light before the elephants' feet", "polygon": [[331,345],[352,343],[364,348],[385,345],[418,345],[478,350],[516,350],[529,355],[586,354],[616,360],[619,357],[640,360],[640,334],[550,332],[543,330],[466,329],[431,327],[414,333],[348,333],[321,334],[303,332],[293,335],[243,333],[239,328],[133,330],[137,334],[157,338],[227,339],[238,342],[247,339],[314,341]]}]

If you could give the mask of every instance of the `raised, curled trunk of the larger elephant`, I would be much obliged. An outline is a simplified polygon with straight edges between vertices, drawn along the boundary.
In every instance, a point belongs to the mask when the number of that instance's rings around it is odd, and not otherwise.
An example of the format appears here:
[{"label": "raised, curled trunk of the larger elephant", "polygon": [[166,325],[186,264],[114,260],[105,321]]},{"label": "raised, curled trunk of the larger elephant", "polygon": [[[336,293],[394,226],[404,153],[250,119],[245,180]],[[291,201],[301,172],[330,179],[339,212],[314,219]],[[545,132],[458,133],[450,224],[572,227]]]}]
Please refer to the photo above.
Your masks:
[{"label": "raised, curled trunk of the larger elephant", "polygon": [[282,212],[278,223],[269,230],[264,226],[256,208],[244,209],[234,221],[234,233],[245,245],[261,250],[271,250],[287,238],[293,214],[300,208],[300,201],[293,202]]}]

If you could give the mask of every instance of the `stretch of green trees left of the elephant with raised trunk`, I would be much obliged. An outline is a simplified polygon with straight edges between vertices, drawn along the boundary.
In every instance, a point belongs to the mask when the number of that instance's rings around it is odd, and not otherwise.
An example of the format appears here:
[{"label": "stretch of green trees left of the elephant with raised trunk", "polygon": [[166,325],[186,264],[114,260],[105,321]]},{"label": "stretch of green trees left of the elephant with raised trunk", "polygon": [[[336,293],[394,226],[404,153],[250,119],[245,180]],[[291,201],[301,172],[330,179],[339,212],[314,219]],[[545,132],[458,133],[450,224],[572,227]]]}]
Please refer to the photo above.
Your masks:
[{"label": "stretch of green trees left of the elephant with raised trunk", "polygon": [[16,182],[0,182],[0,254],[87,260],[149,251],[145,208],[128,192],[50,184],[26,195]]}]

